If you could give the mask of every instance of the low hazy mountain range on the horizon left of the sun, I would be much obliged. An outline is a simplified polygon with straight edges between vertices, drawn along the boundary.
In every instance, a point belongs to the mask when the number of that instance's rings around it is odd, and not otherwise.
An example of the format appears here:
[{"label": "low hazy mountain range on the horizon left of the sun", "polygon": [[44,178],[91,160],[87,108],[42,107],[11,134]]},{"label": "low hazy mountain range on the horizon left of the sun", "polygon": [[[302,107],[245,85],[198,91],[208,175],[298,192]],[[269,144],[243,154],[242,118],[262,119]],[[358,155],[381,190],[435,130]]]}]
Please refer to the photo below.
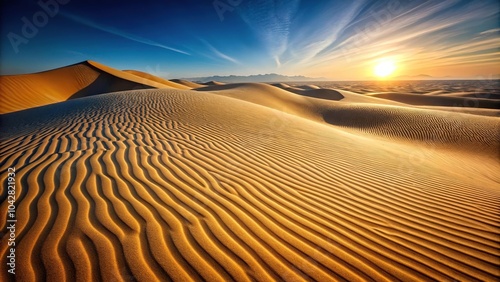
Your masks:
[{"label": "low hazy mountain range on the horizon left of the sun", "polygon": [[207,77],[191,77],[191,78],[183,78],[185,80],[190,80],[194,82],[208,82],[208,81],[220,81],[220,82],[228,82],[228,83],[236,83],[236,82],[285,82],[285,81],[325,81],[330,80],[324,77],[306,77],[302,75],[296,76],[287,76],[276,73],[269,74],[254,74],[248,76],[240,76],[240,75],[228,75],[228,76],[207,76]]}]

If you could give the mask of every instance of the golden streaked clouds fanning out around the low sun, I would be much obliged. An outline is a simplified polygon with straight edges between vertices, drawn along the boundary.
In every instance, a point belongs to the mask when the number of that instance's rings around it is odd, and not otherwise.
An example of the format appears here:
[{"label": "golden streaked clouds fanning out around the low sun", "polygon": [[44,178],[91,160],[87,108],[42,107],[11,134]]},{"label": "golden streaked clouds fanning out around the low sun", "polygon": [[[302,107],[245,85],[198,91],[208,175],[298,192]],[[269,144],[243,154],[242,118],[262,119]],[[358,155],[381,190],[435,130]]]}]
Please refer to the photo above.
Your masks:
[{"label": "golden streaked clouds fanning out around the low sun", "polygon": [[[494,26],[499,16],[494,2],[403,1],[393,11],[388,8],[391,2],[353,1],[350,9],[341,9],[344,17],[335,17],[337,24],[318,17],[307,26],[309,33],[293,38],[290,49],[297,59],[289,68],[313,76],[358,73],[359,78],[370,75],[373,62],[385,56],[396,58],[407,70],[500,63],[500,39],[492,37],[500,32],[498,24]],[[335,11],[335,5],[325,10]]]}]

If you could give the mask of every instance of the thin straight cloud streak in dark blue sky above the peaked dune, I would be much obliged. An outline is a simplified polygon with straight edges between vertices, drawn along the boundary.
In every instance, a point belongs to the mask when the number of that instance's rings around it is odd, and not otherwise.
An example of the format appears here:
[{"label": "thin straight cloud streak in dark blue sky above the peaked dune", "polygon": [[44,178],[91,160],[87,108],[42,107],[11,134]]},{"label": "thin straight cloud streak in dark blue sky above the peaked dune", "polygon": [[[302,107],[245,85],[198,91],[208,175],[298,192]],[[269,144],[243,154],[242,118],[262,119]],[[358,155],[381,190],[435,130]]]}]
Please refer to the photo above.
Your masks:
[{"label": "thin straight cloud streak in dark blue sky above the peaked dune", "polygon": [[63,17],[65,17],[65,18],[67,18],[69,20],[72,20],[74,22],[77,22],[79,24],[82,24],[82,25],[85,25],[85,26],[88,26],[88,27],[91,27],[91,28],[95,28],[97,30],[100,30],[100,31],[103,31],[103,32],[107,32],[109,34],[113,34],[113,35],[116,35],[116,36],[119,36],[119,37],[122,37],[122,38],[125,38],[125,39],[129,39],[129,40],[132,40],[132,41],[135,41],[135,42],[138,42],[138,43],[142,43],[142,44],[146,44],[146,45],[149,45],[149,46],[154,46],[154,47],[162,48],[162,49],[165,49],[165,50],[169,50],[169,51],[180,53],[180,54],[184,54],[184,55],[191,55],[188,52],[185,52],[185,51],[173,48],[173,47],[169,47],[169,46],[166,46],[164,44],[158,43],[156,41],[153,41],[153,40],[150,40],[150,39],[146,39],[146,38],[143,38],[143,37],[140,37],[140,36],[137,36],[137,35],[133,35],[133,34],[124,32],[122,30],[113,28],[113,27],[109,27],[109,26],[105,26],[103,24],[95,23],[95,22],[93,22],[93,21],[91,21],[89,19],[86,19],[86,18],[77,16],[77,15],[74,15],[72,13],[61,12],[61,15]]}]

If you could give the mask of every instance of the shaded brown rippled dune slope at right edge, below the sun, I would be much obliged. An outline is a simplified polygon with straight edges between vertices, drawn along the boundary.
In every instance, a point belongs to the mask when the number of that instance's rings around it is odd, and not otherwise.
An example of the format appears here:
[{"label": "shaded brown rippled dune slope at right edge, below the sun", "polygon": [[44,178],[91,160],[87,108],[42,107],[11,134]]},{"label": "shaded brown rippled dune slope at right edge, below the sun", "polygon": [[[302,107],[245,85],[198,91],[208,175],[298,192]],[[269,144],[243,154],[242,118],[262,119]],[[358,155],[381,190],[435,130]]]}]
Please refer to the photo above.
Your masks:
[{"label": "shaded brown rippled dune slope at right edge, below the sun", "polygon": [[326,122],[399,140],[430,143],[497,158],[500,119],[384,105],[338,105]]}]

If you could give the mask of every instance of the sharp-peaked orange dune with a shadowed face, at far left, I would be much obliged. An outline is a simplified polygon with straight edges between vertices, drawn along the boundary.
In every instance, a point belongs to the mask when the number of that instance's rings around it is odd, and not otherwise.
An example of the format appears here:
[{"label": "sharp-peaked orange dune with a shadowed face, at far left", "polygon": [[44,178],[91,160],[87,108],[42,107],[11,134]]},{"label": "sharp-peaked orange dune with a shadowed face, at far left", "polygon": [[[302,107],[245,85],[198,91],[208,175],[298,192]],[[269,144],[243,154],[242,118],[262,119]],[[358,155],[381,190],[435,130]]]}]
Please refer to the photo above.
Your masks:
[{"label": "sharp-peaked orange dune with a shadowed face, at far left", "polygon": [[0,114],[108,92],[173,87],[173,83],[165,85],[93,61],[34,74],[0,76],[0,85]]}]

